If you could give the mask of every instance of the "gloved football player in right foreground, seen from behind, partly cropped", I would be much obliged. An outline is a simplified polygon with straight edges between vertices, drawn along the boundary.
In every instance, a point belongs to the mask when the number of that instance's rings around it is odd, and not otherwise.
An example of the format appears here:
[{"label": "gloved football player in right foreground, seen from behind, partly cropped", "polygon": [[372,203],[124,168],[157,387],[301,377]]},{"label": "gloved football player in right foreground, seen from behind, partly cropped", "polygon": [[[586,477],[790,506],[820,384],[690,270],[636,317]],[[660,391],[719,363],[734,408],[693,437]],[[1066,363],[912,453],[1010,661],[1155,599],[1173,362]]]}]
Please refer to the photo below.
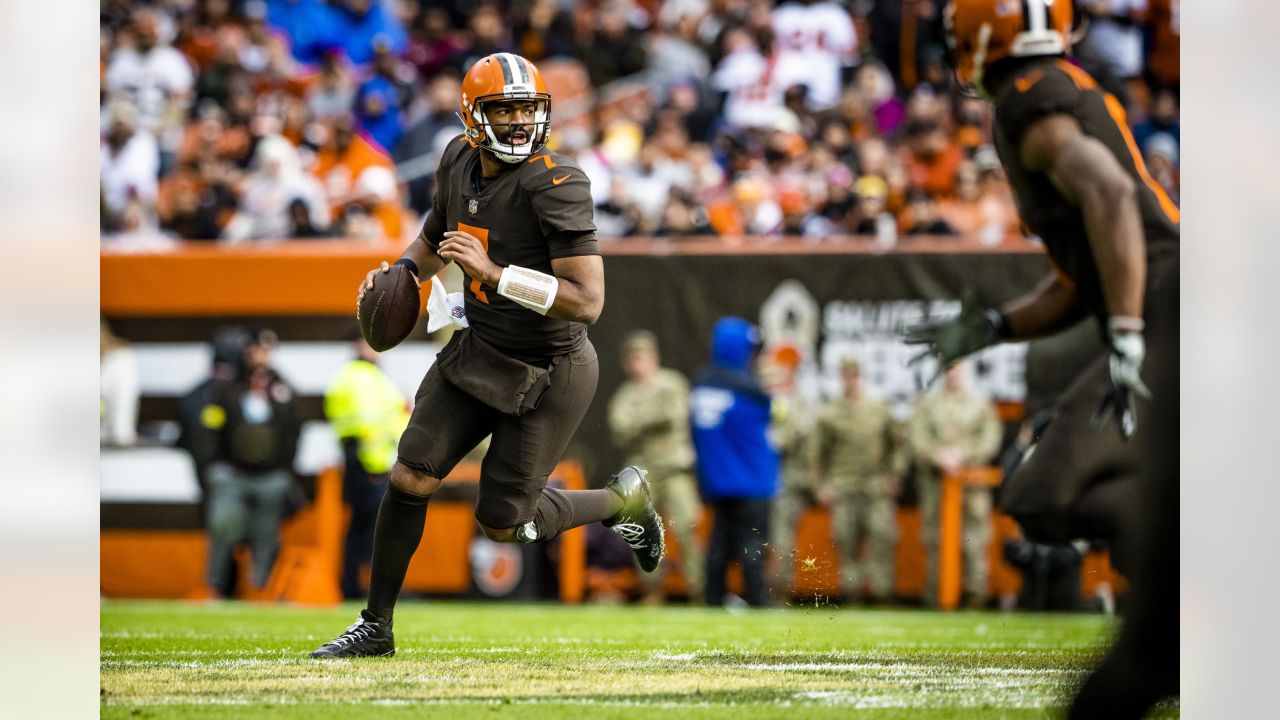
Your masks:
[{"label": "gloved football player in right foreground, seen from behind, partly cropped", "polygon": [[[1000,309],[965,302],[905,337],[948,366],[1097,320],[1108,351],[1059,398],[1002,503],[1034,539],[1116,542],[1143,611],[1071,716],[1139,717],[1178,692],[1178,464],[1167,460],[1178,454],[1179,209],[1147,173],[1120,102],[1068,59],[1069,0],[952,0],[945,20],[960,85],[995,104],[996,150],[1051,272]],[[1108,423],[1119,432],[1098,432]]]}]

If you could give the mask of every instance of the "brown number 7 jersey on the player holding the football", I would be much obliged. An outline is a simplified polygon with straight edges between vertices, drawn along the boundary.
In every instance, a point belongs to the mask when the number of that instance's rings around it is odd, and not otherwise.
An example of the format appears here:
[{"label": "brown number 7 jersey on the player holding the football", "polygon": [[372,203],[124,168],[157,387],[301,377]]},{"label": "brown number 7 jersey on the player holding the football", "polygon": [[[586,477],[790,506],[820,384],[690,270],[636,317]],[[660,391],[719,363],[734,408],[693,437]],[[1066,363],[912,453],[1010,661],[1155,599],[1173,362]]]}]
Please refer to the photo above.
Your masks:
[{"label": "brown number 7 jersey on the player holding the football", "polygon": [[[460,229],[480,238],[498,265],[547,274],[557,258],[599,255],[591,184],[572,159],[543,151],[481,178],[480,152],[462,136],[444,150],[422,227],[433,246]],[[471,332],[525,363],[545,365],[586,340],[586,325],[539,315],[471,277],[465,295]]]}]

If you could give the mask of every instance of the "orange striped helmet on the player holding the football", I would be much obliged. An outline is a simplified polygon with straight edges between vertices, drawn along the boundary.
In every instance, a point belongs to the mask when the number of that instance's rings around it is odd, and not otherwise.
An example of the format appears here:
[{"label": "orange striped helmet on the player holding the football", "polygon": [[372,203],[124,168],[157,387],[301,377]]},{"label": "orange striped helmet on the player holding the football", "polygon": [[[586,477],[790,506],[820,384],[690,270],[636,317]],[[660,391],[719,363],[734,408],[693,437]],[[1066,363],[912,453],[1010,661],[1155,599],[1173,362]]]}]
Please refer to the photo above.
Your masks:
[{"label": "orange striped helmet on the player holding the football", "polygon": [[[534,132],[530,142],[512,145],[494,135],[485,104],[494,101],[534,100]],[[506,163],[518,163],[538,154],[547,146],[552,128],[552,95],[547,92],[543,74],[532,63],[513,53],[494,53],[476,60],[462,78],[462,111],[458,117],[467,127],[466,136],[472,145],[493,152]],[[508,127],[515,123],[507,123]],[[509,140],[509,137],[508,137]]]}]

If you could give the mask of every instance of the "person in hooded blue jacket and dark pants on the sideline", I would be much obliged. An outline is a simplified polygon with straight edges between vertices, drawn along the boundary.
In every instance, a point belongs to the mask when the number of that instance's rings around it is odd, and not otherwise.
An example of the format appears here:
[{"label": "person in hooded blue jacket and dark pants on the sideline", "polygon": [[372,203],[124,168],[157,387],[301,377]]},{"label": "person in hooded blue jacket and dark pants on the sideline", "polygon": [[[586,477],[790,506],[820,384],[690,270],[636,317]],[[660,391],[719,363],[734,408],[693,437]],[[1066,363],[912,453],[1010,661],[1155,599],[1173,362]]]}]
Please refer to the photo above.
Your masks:
[{"label": "person in hooded blue jacket and dark pants on the sideline", "polygon": [[742,598],[769,602],[765,538],[769,506],[778,492],[778,451],[769,438],[771,402],[755,378],[759,329],[741,318],[721,318],[712,331],[712,359],[690,396],[690,425],[698,454],[698,487],[714,515],[707,551],[707,603],[724,601],[724,570],[742,564]]}]

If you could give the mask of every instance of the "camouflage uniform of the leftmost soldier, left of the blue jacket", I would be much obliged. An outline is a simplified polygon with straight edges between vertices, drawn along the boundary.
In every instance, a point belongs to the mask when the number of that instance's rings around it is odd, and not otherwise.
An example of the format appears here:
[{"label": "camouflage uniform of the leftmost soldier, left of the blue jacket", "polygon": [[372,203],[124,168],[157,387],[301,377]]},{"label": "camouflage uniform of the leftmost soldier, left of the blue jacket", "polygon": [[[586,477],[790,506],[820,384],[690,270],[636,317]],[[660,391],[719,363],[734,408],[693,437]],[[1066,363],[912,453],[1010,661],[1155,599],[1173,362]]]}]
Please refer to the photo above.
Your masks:
[{"label": "camouflage uniform of the leftmost soldier, left of the blue jacket", "polygon": [[[609,430],[628,465],[649,471],[654,502],[680,543],[681,571],[689,592],[701,598],[703,552],[694,537],[701,510],[694,479],[694,446],[689,436],[689,380],[660,368],[645,384],[622,383],[609,400]],[[648,593],[662,589],[662,573],[641,574]]]}]

